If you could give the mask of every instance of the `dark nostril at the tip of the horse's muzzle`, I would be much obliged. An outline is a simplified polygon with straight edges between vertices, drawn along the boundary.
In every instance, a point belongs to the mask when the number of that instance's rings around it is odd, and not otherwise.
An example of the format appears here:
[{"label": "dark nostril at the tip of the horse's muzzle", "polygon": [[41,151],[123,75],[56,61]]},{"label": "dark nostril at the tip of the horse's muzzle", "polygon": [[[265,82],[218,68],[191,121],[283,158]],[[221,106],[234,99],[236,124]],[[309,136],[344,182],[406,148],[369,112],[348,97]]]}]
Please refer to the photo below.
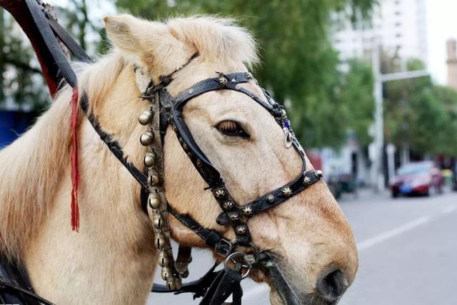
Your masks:
[{"label": "dark nostril at the tip of the horse's muzzle", "polygon": [[326,301],[336,301],[348,288],[348,280],[343,271],[336,269],[318,280],[316,289]]}]

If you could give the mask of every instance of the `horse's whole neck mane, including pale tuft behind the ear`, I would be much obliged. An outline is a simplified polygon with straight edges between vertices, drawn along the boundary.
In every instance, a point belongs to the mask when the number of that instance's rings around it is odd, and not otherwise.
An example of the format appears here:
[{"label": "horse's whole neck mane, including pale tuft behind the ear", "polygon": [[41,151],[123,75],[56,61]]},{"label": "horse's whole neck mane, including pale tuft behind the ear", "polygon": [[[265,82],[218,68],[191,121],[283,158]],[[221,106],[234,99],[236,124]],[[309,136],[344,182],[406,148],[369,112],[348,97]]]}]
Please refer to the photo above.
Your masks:
[{"label": "horse's whole neck mane, including pale tuft behind the ear", "polygon": [[[80,90],[98,101],[123,67],[116,52],[79,65]],[[64,176],[70,169],[70,100],[71,88],[64,86],[34,126],[0,151],[0,253],[9,259],[20,259],[40,229],[62,179],[70,184],[70,176]]]}]

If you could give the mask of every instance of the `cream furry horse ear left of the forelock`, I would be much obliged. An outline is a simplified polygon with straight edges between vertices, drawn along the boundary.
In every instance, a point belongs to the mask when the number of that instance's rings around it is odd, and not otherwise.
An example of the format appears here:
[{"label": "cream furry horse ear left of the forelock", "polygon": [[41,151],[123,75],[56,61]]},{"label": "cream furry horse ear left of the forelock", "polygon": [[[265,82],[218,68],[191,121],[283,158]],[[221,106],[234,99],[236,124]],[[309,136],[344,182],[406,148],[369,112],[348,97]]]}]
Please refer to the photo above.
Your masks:
[{"label": "cream furry horse ear left of the forelock", "polygon": [[131,15],[117,15],[104,17],[106,34],[119,49],[129,52],[140,48],[139,35],[136,33],[137,24],[141,22]]}]

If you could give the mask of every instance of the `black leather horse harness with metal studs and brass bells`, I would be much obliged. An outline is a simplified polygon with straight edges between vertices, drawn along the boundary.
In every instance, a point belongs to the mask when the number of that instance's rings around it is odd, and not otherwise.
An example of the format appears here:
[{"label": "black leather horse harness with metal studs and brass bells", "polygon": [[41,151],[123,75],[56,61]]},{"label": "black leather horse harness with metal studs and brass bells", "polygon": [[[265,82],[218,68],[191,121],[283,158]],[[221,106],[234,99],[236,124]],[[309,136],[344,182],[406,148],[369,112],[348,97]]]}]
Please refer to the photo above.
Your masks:
[{"label": "black leather horse harness with metal studs and brass bells", "polygon": [[[47,35],[43,35],[46,44],[54,45],[54,48],[50,49],[51,52],[60,54],[62,51],[60,47],[55,47],[55,36],[58,36],[78,59],[81,61],[89,60],[89,56],[85,54],[84,50],[61,29],[52,16],[46,14],[46,10],[40,6],[41,2],[26,0],[26,3],[31,9],[36,24],[41,26],[42,31],[47,33]],[[46,21],[45,24],[43,24],[43,20]],[[52,34],[51,39],[49,38],[50,34]],[[181,71],[181,69],[190,69],[188,66],[198,56],[199,54],[194,54],[179,69],[176,69],[169,75],[160,76],[157,84],[147,79],[148,76],[140,68],[135,69],[137,84],[139,86],[146,84],[142,98],[149,101],[149,109],[145,109],[139,116],[139,123],[147,126],[147,130],[140,136],[141,144],[146,146],[148,150],[144,156],[145,171],[137,168],[124,156],[122,147],[116,139],[104,131],[96,116],[89,112],[89,99],[87,95],[83,93],[80,99],[81,109],[85,112],[87,119],[94,126],[101,140],[104,141],[114,156],[134,176],[136,181],[141,184],[141,206],[152,221],[155,234],[154,244],[159,251],[161,277],[166,281],[166,285],[154,284],[152,291],[174,292],[176,294],[190,292],[194,294],[194,299],[203,297],[200,303],[201,305],[223,304],[232,295],[233,305],[237,305],[241,304],[241,296],[243,294],[241,281],[248,276],[253,268],[258,268],[263,270],[270,279],[274,279],[276,286],[281,288],[279,293],[283,296],[283,299],[287,300],[287,304],[301,304],[298,297],[293,293],[293,289],[288,285],[281,271],[276,266],[273,260],[273,254],[258,249],[252,243],[251,233],[248,229],[248,220],[262,211],[278,206],[292,196],[308,189],[308,187],[321,179],[322,172],[314,170],[306,171],[305,152],[291,129],[290,121],[283,107],[276,103],[266,90],[261,89],[263,96],[258,96],[243,86],[248,83],[253,83],[257,86],[257,81],[253,79],[250,73],[246,71],[229,74],[216,72],[216,77],[200,81],[189,89],[182,91],[177,96],[171,96],[167,87],[173,81],[174,74]],[[63,76],[67,83],[71,86],[76,86],[76,76],[74,76],[74,72],[69,68],[68,61],[56,61],[56,64],[61,67],[62,71],[67,71],[66,75]],[[147,82],[145,83],[145,81]],[[273,116],[276,123],[283,130],[286,147],[290,148],[293,146],[301,157],[301,172],[296,179],[293,179],[293,181],[288,182],[278,189],[268,191],[268,193],[263,194],[258,199],[246,204],[240,204],[233,199],[218,169],[211,164],[204,151],[200,149],[183,118],[184,107],[189,101],[201,94],[220,90],[231,90],[245,94],[253,102],[263,106]],[[221,236],[218,231],[205,228],[191,216],[180,214],[166,201],[163,186],[164,155],[162,146],[164,135],[169,126],[171,126],[171,129],[176,134],[182,149],[186,152],[192,164],[194,164],[201,178],[208,185],[206,190],[212,192],[214,199],[221,207],[221,214],[216,219],[217,224],[231,226],[236,236],[235,240],[229,241],[224,236]],[[171,236],[168,214],[174,216],[184,226],[200,236],[204,243],[219,256],[219,259],[224,261],[224,267],[216,270],[218,266],[218,263],[216,263],[201,279],[183,285],[181,279],[189,275],[187,267],[191,261],[191,248],[180,246],[178,256],[176,260],[174,259],[170,244]],[[23,266],[20,266],[17,262],[14,264],[1,261],[0,267],[10,270],[10,275],[8,275],[6,272],[1,273],[2,269],[0,268],[0,301],[4,300],[1,299],[2,296],[7,296],[10,299],[5,300],[13,300],[11,303],[15,304],[37,304],[34,301],[51,304],[51,302],[41,299],[34,294],[26,280],[26,272]],[[16,271],[11,272],[11,270]],[[11,276],[11,274],[13,275]],[[6,293],[2,291],[3,289]]]}]

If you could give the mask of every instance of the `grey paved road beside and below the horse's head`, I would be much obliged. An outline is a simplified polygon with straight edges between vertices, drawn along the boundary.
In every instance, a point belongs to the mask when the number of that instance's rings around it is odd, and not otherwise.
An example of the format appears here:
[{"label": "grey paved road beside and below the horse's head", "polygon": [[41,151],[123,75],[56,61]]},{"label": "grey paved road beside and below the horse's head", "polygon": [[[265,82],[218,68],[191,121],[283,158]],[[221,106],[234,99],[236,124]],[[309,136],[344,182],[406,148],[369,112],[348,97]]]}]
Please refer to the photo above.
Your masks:
[{"label": "grey paved road beside and below the horse's head", "polygon": [[[356,236],[360,260],[356,281],[340,304],[457,304],[457,193],[393,200],[388,194],[364,192],[340,204]],[[191,279],[209,266],[209,254],[194,254]],[[243,281],[243,286],[243,304],[269,304],[266,286],[252,281]],[[149,304],[198,301],[154,294]]]}]

